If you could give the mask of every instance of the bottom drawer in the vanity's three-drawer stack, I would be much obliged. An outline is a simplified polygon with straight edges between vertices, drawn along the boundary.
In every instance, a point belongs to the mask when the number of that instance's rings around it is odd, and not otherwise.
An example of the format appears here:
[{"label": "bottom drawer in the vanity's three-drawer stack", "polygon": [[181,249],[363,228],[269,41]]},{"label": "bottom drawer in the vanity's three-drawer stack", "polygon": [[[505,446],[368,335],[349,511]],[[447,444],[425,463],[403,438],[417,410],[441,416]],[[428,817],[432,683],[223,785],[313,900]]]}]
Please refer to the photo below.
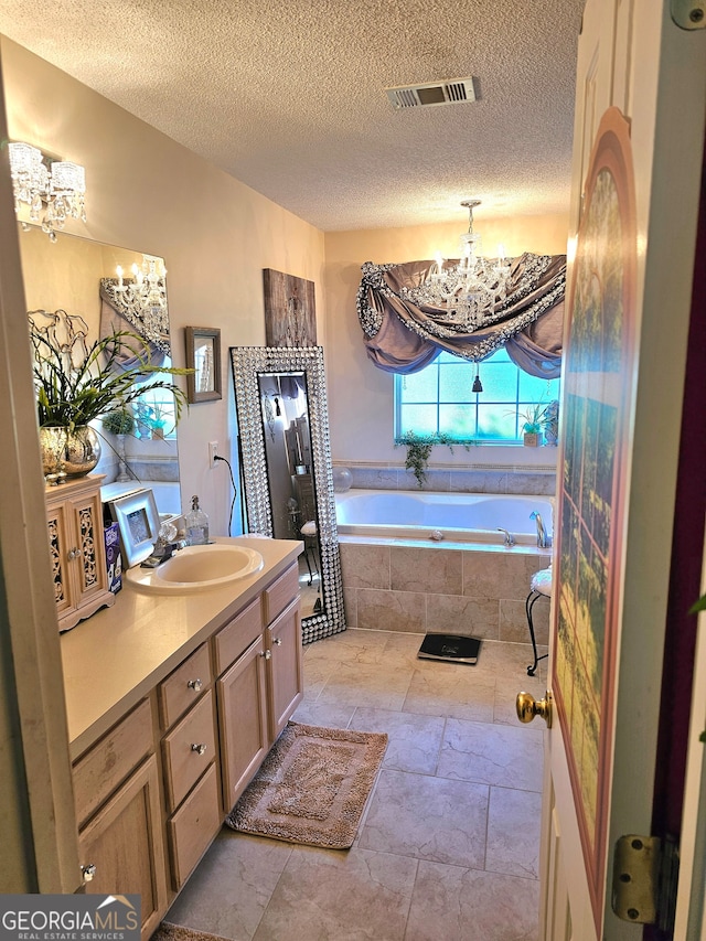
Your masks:
[{"label": "bottom drawer in the vanity's three-drawer stack", "polygon": [[172,885],[178,891],[221,828],[218,780],[211,764],[201,781],[167,822],[172,854]]}]

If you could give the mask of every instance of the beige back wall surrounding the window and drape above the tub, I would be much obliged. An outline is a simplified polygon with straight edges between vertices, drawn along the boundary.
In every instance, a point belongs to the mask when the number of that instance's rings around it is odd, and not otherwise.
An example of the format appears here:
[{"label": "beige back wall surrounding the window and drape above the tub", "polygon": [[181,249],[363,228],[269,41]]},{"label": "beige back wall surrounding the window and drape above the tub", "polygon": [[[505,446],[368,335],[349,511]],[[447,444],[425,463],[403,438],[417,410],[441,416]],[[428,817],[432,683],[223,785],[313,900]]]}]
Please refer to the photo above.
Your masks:
[{"label": "beige back wall surrounding the window and drape above the tub", "polygon": [[[338,463],[404,466],[404,451],[393,442],[393,376],[367,359],[357,322],[355,296],[364,261],[402,263],[434,258],[437,252],[458,257],[458,240],[467,228],[466,210],[458,223],[409,228],[331,232],[325,236],[327,381],[331,448]],[[474,229],[484,252],[494,254],[502,243],[509,256],[522,252],[566,253],[568,214],[485,220],[475,213]],[[467,452],[447,448],[432,452],[430,464],[555,464],[556,449],[483,447]]]}]

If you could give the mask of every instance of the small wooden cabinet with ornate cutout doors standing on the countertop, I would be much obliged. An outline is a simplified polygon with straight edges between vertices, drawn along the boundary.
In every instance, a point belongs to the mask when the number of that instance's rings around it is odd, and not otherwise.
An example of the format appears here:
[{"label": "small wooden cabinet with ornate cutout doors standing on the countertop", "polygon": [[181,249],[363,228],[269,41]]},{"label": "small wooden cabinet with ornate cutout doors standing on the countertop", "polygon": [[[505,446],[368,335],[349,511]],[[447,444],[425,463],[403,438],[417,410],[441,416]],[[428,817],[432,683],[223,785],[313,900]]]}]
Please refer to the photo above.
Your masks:
[{"label": "small wooden cabinet with ornate cutout doors standing on the countertop", "polygon": [[82,477],[45,490],[60,631],[115,603],[115,596],[108,589],[101,480],[101,477]]}]

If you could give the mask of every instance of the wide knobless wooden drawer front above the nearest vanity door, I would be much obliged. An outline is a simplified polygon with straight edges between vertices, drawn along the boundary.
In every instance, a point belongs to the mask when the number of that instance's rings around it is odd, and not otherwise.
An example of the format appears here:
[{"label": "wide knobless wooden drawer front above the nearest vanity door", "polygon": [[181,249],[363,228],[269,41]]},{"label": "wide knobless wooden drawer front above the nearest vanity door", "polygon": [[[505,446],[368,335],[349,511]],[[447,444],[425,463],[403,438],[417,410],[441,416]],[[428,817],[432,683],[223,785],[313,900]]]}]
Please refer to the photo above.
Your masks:
[{"label": "wide knobless wooden drawer front above the nearest vanity door", "polygon": [[143,699],[74,764],[79,827],[152,751],[152,713],[149,701]]}]

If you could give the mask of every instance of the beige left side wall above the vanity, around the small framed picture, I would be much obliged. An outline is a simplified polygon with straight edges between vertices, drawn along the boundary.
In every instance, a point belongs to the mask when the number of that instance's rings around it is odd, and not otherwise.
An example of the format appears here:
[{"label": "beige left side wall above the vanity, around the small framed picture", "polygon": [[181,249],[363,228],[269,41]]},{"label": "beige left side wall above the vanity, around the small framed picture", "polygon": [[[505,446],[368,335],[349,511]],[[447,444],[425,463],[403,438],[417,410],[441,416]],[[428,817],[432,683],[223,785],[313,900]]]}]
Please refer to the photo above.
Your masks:
[{"label": "beige left side wall above the vanity, around the small framed picture", "polygon": [[235,460],[228,346],[265,342],[263,268],[314,282],[325,342],[323,234],[6,38],[0,52],[10,139],[86,168],[88,218],[66,231],[165,259],[175,365],[184,327],[221,330],[223,398],[191,406],[179,455],[182,498],[199,493],[223,535],[231,481],[207,442]]}]

